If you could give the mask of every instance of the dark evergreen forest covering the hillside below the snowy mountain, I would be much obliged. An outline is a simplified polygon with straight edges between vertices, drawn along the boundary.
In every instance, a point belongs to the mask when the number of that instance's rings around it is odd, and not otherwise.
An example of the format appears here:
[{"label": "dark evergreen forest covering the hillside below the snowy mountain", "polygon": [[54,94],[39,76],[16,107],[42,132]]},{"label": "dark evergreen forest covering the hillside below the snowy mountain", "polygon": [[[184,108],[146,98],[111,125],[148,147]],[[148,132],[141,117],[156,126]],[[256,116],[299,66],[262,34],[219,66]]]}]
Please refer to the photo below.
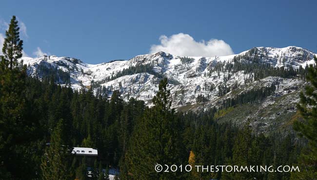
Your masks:
[{"label": "dark evergreen forest covering the hillside below the snowy mountain", "polygon": [[[227,123],[218,124],[214,120],[217,110],[198,114],[176,113],[169,108],[168,101],[160,101],[164,98],[157,100],[158,105],[148,108],[143,101],[133,98],[124,102],[117,92],[107,100],[102,96],[95,97],[91,91],[73,92],[71,88],[60,87],[46,80],[25,78],[24,81],[27,84],[21,89],[24,104],[16,114],[23,121],[16,120],[14,126],[2,126],[6,128],[1,130],[1,137],[6,140],[1,148],[1,173],[12,179],[41,177],[45,169],[41,169],[40,164],[45,162],[44,153],[48,148],[45,144],[54,143],[53,135],[59,139],[59,146],[51,145],[50,148],[66,145],[68,152],[74,146],[98,149],[102,168],[119,167],[122,180],[139,180],[139,177],[150,180],[154,175],[180,180],[192,179],[192,176],[219,179],[222,176],[220,173],[158,174],[154,171],[154,164],[186,164],[190,152],[196,155],[196,164],[290,164],[297,161],[300,148],[305,144],[305,141],[296,141],[292,135],[255,136],[248,125],[238,129]],[[164,82],[160,86],[163,88]],[[164,91],[161,92],[161,96],[168,97]],[[11,124],[8,120],[3,123]],[[56,128],[61,130],[57,131]],[[240,143],[245,140],[248,140],[247,144]],[[171,149],[165,152],[164,147]],[[162,150],[164,155],[158,156]],[[60,150],[54,152],[59,153]],[[245,154],[250,157],[245,157]],[[52,159],[61,158],[54,154],[51,156]],[[53,172],[71,173],[70,179],[82,177],[76,173],[81,162],[75,162],[75,157],[67,153],[65,156],[69,157],[60,159],[60,164],[51,164]],[[275,156],[281,159],[277,160]],[[236,160],[240,158],[243,161]],[[61,166],[64,164],[69,166]],[[54,177],[53,174],[50,176]],[[261,173],[248,176],[273,180]],[[275,176],[289,178],[290,174],[277,173]]]}]

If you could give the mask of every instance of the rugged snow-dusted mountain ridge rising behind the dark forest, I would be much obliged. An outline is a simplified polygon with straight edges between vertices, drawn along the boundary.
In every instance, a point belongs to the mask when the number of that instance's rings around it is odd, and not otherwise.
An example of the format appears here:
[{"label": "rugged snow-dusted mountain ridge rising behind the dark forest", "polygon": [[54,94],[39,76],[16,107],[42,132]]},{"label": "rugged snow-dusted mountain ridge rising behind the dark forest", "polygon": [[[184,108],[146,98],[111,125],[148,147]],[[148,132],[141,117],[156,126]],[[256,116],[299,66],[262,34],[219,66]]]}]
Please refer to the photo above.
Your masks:
[{"label": "rugged snow-dusted mountain ridge rising behind the dark forest", "polygon": [[[269,92],[265,88],[274,86],[274,92],[266,95],[254,111],[270,108],[284,97],[283,103],[287,102],[291,107],[284,105],[279,111],[287,107],[285,112],[294,114],[298,101],[294,94],[305,84],[299,77],[304,75],[306,66],[314,63],[315,55],[306,49],[289,46],[255,47],[237,55],[219,57],[180,57],[158,52],[101,64],[57,56],[49,59],[24,57],[21,60],[28,65],[30,76],[42,79],[54,75],[61,85],[75,90],[92,87],[96,95],[111,96],[118,90],[124,100],[133,97],[144,100],[149,106],[158,90],[159,80],[167,77],[172,106],[180,111],[220,107],[252,90],[262,88],[263,92]],[[263,117],[257,116],[257,113],[251,113],[243,118],[258,118],[260,126],[268,126],[267,120],[262,122]],[[270,114],[265,119],[276,119],[277,116]]]}]

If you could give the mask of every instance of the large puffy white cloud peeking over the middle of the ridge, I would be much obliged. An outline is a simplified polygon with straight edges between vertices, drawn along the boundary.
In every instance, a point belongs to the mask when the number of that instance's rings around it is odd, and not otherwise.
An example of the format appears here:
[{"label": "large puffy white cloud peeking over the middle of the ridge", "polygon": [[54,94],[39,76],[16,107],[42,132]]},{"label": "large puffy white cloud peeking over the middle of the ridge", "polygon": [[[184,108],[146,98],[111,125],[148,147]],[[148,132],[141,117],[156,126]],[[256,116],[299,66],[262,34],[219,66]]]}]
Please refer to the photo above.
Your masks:
[{"label": "large puffy white cloud peeking over the middle of the ridge", "polygon": [[159,37],[160,44],[151,46],[150,53],[164,51],[178,56],[227,56],[232,55],[229,44],[223,40],[212,39],[207,42],[204,40],[196,41],[188,34],[175,34],[170,37],[162,35]]}]

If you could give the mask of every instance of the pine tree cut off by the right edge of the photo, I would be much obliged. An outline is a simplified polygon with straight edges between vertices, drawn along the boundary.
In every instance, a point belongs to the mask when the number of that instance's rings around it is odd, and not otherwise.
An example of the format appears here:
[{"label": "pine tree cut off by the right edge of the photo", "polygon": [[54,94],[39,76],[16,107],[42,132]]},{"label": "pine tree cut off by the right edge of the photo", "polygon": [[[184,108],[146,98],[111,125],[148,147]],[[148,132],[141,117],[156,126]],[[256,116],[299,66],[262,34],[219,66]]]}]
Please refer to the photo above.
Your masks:
[{"label": "pine tree cut off by the right edge of the photo", "polygon": [[[314,57],[317,63],[317,57]],[[292,179],[317,180],[317,66],[311,65],[308,69],[307,80],[310,82],[305,87],[305,92],[300,93],[300,103],[297,104],[304,121],[295,121],[294,129],[309,141],[299,158],[302,171],[292,173]]]}]

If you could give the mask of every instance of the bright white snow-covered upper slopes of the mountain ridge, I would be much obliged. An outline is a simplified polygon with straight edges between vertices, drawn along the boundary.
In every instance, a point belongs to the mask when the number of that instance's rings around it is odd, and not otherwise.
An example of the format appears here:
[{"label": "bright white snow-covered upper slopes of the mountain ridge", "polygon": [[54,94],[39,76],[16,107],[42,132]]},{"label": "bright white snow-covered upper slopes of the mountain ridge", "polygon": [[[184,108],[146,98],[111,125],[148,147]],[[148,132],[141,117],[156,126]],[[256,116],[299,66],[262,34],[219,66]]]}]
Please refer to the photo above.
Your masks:
[{"label": "bright white snow-covered upper slopes of the mountain ridge", "polygon": [[[139,55],[130,60],[117,60],[101,64],[87,64],[74,58],[56,56],[51,56],[49,60],[25,57],[21,60],[28,65],[30,76],[38,76],[37,68],[40,64],[47,65],[47,67],[68,72],[70,86],[73,89],[89,88],[91,82],[94,81],[97,84],[94,86],[96,94],[106,92],[106,95],[110,96],[114,90],[119,90],[124,100],[134,97],[144,100],[149,106],[152,105],[151,100],[158,90],[159,79],[164,76],[170,80],[169,88],[173,97],[173,107],[197,108],[194,104],[197,103],[197,97],[202,95],[208,97],[207,104],[215,104],[220,98],[218,92],[220,86],[228,87],[228,97],[231,96],[230,92],[234,88],[254,87],[246,81],[253,78],[252,73],[213,71],[219,64],[225,66],[226,63],[235,63],[233,61],[234,57],[243,56],[250,53],[250,51],[257,51],[263,63],[279,68],[292,66],[294,69],[298,69],[300,66],[304,68],[307,64],[314,63],[313,56],[315,55],[303,48],[289,46],[285,48],[257,47],[237,55],[222,57],[187,57],[191,59],[189,63],[181,61],[184,57],[173,56],[164,52]],[[139,71],[116,78],[119,72],[131,67],[145,66],[150,67],[151,72]],[[227,80],[224,81],[224,78]],[[265,80],[269,83],[276,79],[268,77]],[[292,86],[292,83],[288,83],[288,80],[282,80],[282,82],[286,82],[283,85],[286,89],[288,86]],[[252,83],[256,84],[257,82]],[[301,83],[304,82],[298,82],[298,84]],[[261,85],[266,86],[265,84]],[[283,92],[277,93],[279,95],[283,94]]]}]

